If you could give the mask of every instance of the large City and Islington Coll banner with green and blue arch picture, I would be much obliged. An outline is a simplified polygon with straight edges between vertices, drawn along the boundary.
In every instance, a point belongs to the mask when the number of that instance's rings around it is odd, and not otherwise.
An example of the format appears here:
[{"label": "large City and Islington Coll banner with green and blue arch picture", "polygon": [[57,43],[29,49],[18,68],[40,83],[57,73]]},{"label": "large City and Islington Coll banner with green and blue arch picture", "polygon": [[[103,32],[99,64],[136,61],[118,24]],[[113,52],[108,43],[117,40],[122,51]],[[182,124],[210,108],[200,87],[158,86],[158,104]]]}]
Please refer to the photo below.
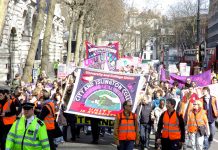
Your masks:
[{"label": "large City and Islington Coll banner with green and blue arch picture", "polygon": [[135,111],[143,82],[141,75],[80,68],[66,112],[114,120],[124,101],[132,101]]}]

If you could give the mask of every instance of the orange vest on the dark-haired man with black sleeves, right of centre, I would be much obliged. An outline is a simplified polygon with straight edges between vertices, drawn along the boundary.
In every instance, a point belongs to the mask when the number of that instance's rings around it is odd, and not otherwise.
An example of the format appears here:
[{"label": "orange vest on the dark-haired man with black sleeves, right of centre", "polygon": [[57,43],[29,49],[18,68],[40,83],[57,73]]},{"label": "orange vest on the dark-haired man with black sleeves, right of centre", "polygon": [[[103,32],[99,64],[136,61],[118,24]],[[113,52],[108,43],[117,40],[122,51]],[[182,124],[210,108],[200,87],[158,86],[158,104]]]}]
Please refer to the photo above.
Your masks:
[{"label": "orange vest on the dark-haired man with black sleeves, right of centre", "polygon": [[177,118],[176,111],[173,112],[171,117],[169,117],[167,111],[164,112],[162,138],[169,138],[170,140],[181,139],[179,119]]}]

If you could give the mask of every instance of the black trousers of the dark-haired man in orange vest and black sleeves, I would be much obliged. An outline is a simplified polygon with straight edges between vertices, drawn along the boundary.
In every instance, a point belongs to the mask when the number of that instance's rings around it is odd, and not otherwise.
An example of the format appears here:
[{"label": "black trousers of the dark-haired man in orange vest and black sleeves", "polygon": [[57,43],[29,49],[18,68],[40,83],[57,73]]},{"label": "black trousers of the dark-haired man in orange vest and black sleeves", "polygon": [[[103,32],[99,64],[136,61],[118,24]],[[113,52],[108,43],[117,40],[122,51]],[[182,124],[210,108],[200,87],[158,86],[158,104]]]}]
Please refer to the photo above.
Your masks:
[{"label": "black trousers of the dark-haired man in orange vest and black sleeves", "polygon": [[161,139],[162,150],[179,150],[181,148],[180,140]]}]

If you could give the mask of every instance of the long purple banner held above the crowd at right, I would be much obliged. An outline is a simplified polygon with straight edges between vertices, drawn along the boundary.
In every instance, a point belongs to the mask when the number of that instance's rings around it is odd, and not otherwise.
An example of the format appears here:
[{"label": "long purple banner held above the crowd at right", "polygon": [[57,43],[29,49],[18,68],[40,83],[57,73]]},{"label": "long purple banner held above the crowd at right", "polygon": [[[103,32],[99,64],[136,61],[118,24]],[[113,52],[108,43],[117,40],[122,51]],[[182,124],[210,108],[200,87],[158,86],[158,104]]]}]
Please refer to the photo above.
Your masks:
[{"label": "long purple banner held above the crowd at right", "polygon": [[[161,80],[166,81],[166,72],[164,69],[161,70]],[[179,76],[176,74],[170,74],[169,82],[172,84],[174,81],[179,82],[180,86],[184,86],[186,83],[186,79],[190,78],[191,81],[197,83],[198,86],[207,86],[211,84],[211,70],[205,71],[201,74],[193,75],[193,76]]]}]

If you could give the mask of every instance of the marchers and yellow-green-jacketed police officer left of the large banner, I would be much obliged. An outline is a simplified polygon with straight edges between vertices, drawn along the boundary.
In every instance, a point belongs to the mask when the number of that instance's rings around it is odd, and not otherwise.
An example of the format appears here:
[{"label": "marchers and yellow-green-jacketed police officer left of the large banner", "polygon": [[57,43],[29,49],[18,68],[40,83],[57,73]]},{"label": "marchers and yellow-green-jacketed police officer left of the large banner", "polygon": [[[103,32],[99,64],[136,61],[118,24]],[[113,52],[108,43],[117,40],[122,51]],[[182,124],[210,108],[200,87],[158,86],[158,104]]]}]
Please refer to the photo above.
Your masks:
[{"label": "marchers and yellow-green-jacketed police officer left of the large banner", "polygon": [[61,82],[51,82],[42,71],[35,84],[26,84],[20,74],[16,74],[10,87],[1,87],[0,149],[55,150],[58,144],[69,139],[68,127],[71,141],[75,141],[80,134],[76,116],[64,112],[74,80],[72,73]]}]

